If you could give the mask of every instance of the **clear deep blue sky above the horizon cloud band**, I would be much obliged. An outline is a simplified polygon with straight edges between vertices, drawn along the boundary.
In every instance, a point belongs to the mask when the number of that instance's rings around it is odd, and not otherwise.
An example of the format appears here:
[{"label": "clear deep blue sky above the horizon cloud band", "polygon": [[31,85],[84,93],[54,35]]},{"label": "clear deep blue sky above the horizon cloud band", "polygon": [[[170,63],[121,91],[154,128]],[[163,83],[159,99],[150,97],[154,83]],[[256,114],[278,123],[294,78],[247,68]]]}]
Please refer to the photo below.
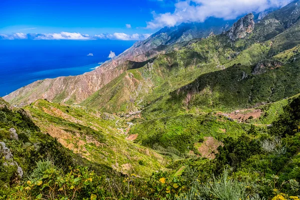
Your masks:
[{"label": "clear deep blue sky above the horizon cloud band", "polygon": [[171,11],[172,5],[159,0],[0,0],[0,32],[148,33],[142,27],[151,12]]}]

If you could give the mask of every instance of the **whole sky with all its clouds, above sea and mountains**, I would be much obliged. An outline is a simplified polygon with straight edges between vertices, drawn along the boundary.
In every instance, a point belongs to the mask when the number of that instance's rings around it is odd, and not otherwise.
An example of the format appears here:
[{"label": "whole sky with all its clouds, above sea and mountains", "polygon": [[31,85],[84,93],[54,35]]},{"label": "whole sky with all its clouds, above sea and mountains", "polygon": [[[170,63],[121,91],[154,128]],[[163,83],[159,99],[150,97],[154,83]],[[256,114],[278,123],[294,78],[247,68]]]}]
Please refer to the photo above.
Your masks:
[{"label": "whole sky with all its clouds, above sea and mountains", "polygon": [[0,38],[137,40],[163,26],[234,19],[290,1],[0,0]]}]

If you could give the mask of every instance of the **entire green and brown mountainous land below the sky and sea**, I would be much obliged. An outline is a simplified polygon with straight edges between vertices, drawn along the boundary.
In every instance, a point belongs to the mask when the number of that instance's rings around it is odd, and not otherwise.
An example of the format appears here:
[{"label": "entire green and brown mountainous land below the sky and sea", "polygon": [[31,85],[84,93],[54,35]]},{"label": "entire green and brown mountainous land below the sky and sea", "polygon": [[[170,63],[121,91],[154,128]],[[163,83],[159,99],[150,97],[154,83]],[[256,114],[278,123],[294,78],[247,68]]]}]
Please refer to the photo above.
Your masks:
[{"label": "entire green and brown mountainous land below the sky and sea", "polygon": [[299,3],[0,99],[0,198],[299,199]]}]

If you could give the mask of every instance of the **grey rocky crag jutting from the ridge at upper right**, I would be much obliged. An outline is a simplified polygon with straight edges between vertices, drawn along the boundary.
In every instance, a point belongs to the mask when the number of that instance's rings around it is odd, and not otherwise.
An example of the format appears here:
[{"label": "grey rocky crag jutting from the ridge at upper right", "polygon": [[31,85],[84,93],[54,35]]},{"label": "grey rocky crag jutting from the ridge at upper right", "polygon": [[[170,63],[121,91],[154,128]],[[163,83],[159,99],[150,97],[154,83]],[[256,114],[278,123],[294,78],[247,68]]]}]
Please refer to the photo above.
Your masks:
[{"label": "grey rocky crag jutting from the ridge at upper right", "polygon": [[227,32],[227,36],[232,40],[237,38],[243,38],[254,29],[254,15],[249,13],[236,21],[230,30]]}]

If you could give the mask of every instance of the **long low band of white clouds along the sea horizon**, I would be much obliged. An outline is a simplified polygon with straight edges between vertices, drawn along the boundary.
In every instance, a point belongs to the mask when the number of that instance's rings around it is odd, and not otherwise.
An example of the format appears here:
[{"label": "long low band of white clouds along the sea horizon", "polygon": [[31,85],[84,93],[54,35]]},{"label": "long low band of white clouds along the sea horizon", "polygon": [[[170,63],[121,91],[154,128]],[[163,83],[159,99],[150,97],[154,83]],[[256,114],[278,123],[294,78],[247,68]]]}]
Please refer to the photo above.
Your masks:
[{"label": "long low band of white clouds along the sea horizon", "polygon": [[69,40],[91,40],[91,39],[115,39],[115,40],[144,40],[148,38],[151,34],[126,34],[123,32],[115,32],[112,34],[95,34],[88,35],[79,32],[60,32],[60,33],[12,33],[12,34],[0,34],[0,39],[46,39],[46,40],[59,40],[59,39],[69,39]]}]

